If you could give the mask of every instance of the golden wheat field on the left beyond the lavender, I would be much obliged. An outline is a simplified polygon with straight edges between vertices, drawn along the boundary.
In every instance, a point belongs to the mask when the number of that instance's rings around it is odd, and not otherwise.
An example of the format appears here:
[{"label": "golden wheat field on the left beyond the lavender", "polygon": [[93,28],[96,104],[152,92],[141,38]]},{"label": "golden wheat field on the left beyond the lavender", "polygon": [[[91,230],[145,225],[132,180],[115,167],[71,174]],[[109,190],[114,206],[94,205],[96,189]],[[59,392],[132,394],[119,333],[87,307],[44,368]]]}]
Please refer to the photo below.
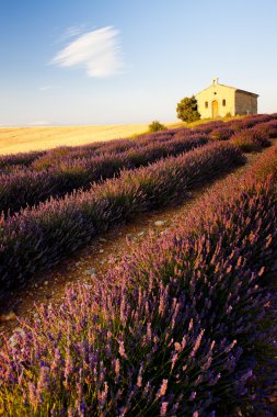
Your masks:
[{"label": "golden wheat field on the left beyond the lavender", "polygon": [[147,124],[1,127],[0,154],[49,149],[64,145],[85,145],[92,142],[130,137],[147,129]]}]

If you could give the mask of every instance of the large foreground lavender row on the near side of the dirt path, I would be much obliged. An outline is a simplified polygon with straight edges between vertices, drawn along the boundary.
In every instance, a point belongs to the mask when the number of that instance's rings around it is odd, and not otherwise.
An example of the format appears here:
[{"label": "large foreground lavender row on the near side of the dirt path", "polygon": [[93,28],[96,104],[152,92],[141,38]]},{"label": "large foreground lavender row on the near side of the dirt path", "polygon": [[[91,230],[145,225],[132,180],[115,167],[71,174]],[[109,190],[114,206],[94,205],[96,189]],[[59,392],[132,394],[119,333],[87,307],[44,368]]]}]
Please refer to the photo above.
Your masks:
[{"label": "large foreground lavender row on the near side of the dirt path", "polygon": [[263,320],[276,314],[265,273],[276,230],[274,184],[228,181],[180,228],[22,323],[0,352],[1,408],[8,417],[215,417],[242,415],[250,397],[247,415],[267,415],[249,386],[274,331]]}]

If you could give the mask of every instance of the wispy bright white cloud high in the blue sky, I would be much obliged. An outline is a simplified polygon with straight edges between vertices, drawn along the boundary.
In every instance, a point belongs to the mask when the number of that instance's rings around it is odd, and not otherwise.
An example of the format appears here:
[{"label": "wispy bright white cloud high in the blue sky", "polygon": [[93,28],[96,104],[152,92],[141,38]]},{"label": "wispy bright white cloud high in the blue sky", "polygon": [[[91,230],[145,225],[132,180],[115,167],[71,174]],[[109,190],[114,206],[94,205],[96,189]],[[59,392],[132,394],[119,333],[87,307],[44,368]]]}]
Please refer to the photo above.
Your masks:
[{"label": "wispy bright white cloud high in the blue sky", "polygon": [[60,50],[53,64],[61,67],[81,66],[89,77],[103,78],[120,74],[124,63],[118,31],[112,26],[82,34]]}]

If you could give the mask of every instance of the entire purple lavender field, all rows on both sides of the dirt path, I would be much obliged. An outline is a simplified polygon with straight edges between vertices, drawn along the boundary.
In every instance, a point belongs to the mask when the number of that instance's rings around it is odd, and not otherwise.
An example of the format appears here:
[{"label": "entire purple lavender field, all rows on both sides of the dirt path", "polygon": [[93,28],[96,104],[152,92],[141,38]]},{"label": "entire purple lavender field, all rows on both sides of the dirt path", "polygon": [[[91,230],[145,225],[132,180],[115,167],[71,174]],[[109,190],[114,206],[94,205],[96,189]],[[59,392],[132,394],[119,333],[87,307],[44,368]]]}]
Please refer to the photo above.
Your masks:
[{"label": "entire purple lavender field, all rows on both sides of the dirt path", "polygon": [[276,137],[264,114],[0,157],[2,305],[105,230],[226,177],[177,227],[21,320],[0,348],[0,415],[274,415]]}]

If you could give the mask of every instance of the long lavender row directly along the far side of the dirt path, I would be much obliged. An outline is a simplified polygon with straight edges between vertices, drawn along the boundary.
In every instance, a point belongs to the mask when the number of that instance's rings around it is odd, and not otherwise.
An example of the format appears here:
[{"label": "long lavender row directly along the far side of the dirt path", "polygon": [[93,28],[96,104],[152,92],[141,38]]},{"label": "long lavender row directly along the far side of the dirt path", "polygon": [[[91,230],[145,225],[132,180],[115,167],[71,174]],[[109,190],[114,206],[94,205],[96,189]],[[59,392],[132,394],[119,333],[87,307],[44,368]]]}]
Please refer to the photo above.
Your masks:
[{"label": "long lavender row directly along the far side of the dirt path", "polygon": [[176,203],[189,190],[204,185],[244,162],[229,144],[203,148],[158,161],[119,179],[74,192],[64,200],[41,203],[2,217],[0,225],[0,297],[26,283],[38,270],[56,264],[107,227],[136,214]]}]

